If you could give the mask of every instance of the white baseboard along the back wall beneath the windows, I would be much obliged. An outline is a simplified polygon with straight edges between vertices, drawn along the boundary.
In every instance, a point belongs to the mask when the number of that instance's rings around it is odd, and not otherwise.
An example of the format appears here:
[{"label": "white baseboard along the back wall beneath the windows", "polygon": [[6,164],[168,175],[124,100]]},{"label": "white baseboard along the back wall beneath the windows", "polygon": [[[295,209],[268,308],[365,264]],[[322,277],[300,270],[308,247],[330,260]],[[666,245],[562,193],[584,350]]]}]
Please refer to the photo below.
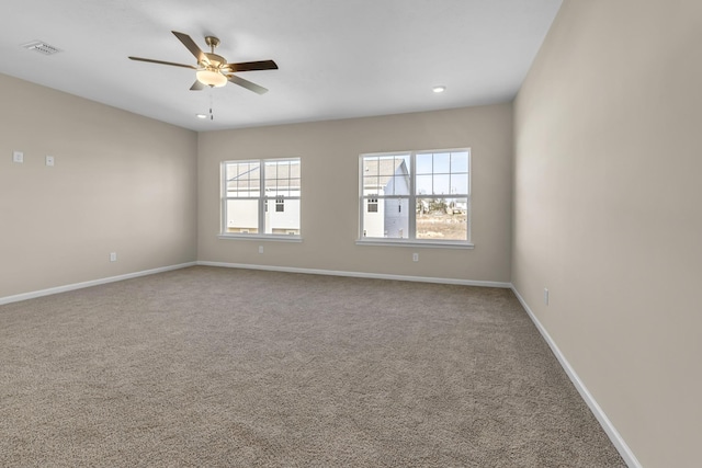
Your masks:
[{"label": "white baseboard along the back wall beneath the windows", "polygon": [[501,287],[507,289],[512,286],[510,283],[490,282],[490,281],[437,278],[431,276],[388,275],[384,273],[341,272],[336,270],[298,269],[294,266],[252,265],[248,263],[224,263],[224,262],[197,261],[197,264],[202,266],[219,266],[225,269],[265,270],[271,272],[305,273],[310,275],[350,276],[350,277],[372,278],[372,279],[396,279],[396,281],[409,281],[409,282],[418,282],[418,283],[457,284],[463,286]]}]

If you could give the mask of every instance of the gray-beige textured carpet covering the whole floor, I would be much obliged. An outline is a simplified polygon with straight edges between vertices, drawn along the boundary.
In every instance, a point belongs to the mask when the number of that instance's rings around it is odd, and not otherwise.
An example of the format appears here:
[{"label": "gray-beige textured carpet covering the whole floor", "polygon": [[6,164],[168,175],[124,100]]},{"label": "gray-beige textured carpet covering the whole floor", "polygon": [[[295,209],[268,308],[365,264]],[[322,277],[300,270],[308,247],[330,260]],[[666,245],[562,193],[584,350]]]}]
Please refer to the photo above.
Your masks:
[{"label": "gray-beige textured carpet covering the whole floor", "polygon": [[191,267],[0,307],[3,467],[623,467],[508,289]]}]

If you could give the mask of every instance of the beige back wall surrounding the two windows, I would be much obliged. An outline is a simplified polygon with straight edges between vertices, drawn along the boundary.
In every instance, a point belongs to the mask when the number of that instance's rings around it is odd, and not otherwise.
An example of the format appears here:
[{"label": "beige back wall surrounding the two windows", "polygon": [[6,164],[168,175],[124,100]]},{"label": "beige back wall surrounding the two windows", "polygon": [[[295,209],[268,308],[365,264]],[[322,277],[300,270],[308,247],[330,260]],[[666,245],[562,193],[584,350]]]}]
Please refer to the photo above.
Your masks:
[{"label": "beige back wall surrounding the two windows", "polygon": [[[356,246],[359,155],[471,147],[474,250]],[[200,134],[201,261],[509,282],[511,104]],[[302,243],[220,240],[219,163],[301,157]],[[258,246],[264,253],[258,253]],[[419,252],[420,261],[411,261]]]}]

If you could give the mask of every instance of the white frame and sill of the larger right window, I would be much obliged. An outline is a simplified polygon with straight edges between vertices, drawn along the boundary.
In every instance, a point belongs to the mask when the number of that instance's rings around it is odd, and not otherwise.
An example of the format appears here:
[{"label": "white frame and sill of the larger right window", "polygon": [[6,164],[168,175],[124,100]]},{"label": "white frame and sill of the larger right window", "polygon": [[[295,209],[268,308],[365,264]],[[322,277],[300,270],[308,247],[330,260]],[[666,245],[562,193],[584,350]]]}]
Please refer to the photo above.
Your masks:
[{"label": "white frame and sill of the larger right window", "polygon": [[[429,153],[444,153],[444,152],[467,152],[468,153],[468,180],[466,194],[455,194],[455,197],[466,198],[466,239],[465,240],[441,240],[441,239],[417,239],[417,199],[424,198],[427,196],[417,195],[416,191],[416,158],[417,155]],[[364,175],[364,158],[367,157],[393,157],[393,156],[407,156],[409,155],[410,168],[409,168],[409,195],[378,195],[378,194],[363,194],[363,175]],[[454,248],[454,249],[473,249],[475,246],[471,239],[471,231],[473,226],[473,216],[471,213],[472,201],[472,155],[471,148],[449,148],[449,149],[433,149],[433,150],[410,150],[410,151],[390,151],[390,152],[369,152],[359,156],[359,233],[356,239],[358,246],[406,246],[406,247],[432,247],[432,248]],[[453,195],[452,195],[453,197]],[[364,212],[367,210],[367,203],[370,199],[377,203],[383,203],[385,199],[407,199],[409,206],[409,232],[408,238],[380,238],[365,237],[366,229],[363,226]]]}]

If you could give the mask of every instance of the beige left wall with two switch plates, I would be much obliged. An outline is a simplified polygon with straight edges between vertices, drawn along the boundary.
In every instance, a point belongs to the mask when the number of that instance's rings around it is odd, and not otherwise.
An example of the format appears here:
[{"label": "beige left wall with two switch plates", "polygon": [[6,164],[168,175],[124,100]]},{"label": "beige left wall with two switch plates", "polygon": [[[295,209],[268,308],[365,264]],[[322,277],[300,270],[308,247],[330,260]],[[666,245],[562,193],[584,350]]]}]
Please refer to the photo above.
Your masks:
[{"label": "beige left wall with two switch plates", "polygon": [[0,98],[0,298],[196,260],[194,132],[1,75]]}]

